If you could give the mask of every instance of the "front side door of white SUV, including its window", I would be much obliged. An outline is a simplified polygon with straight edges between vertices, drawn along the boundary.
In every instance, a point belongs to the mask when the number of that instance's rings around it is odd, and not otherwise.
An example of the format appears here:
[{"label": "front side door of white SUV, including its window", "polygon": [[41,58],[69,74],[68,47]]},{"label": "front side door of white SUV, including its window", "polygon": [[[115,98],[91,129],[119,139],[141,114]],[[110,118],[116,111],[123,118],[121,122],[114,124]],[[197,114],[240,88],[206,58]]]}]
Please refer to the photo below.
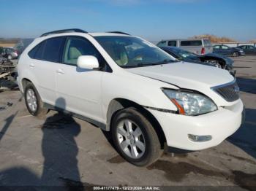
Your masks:
[{"label": "front side door of white SUV, including its window", "polygon": [[[64,99],[69,112],[101,121],[101,81],[102,71],[77,67],[80,55],[94,55],[100,62],[102,56],[88,39],[68,36],[64,45],[62,63],[56,71],[57,99]],[[63,107],[58,105],[59,108]]]}]

